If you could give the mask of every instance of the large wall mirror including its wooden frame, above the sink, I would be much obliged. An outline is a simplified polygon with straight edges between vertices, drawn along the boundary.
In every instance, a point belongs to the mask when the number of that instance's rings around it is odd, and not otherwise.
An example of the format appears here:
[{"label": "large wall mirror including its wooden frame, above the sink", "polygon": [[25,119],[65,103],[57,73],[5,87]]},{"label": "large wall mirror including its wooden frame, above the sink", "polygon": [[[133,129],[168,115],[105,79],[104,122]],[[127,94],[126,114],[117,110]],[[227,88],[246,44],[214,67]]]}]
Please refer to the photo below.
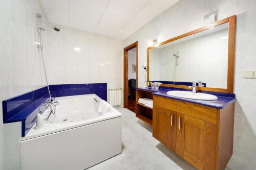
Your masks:
[{"label": "large wall mirror including its wooden frame, above the sink", "polygon": [[162,86],[233,92],[236,16],[182,34],[147,49],[147,80]]}]

